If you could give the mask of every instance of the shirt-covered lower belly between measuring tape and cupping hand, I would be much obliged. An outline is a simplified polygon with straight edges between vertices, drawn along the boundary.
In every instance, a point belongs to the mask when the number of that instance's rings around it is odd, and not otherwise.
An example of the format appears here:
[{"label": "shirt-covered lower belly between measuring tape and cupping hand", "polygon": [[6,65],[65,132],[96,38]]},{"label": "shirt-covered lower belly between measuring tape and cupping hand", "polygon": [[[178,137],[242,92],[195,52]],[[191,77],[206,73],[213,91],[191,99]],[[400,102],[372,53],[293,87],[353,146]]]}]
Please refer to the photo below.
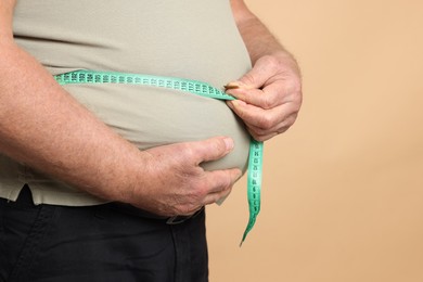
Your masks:
[{"label": "shirt-covered lower belly between measuring tape and cupping hand", "polygon": [[249,136],[223,101],[130,85],[67,85],[65,89],[140,150],[227,136],[233,152],[206,169],[246,169]]}]

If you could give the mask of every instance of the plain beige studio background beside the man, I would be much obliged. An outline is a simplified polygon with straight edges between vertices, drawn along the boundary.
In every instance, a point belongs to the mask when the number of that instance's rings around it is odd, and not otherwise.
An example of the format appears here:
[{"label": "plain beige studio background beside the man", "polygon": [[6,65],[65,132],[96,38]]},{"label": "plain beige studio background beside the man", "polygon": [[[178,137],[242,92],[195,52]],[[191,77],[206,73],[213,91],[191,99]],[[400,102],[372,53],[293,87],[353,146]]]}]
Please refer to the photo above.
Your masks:
[{"label": "plain beige studio background beside the man", "polygon": [[208,208],[210,281],[423,281],[423,1],[246,2],[297,56],[305,101],[266,144],[242,248],[245,178]]}]

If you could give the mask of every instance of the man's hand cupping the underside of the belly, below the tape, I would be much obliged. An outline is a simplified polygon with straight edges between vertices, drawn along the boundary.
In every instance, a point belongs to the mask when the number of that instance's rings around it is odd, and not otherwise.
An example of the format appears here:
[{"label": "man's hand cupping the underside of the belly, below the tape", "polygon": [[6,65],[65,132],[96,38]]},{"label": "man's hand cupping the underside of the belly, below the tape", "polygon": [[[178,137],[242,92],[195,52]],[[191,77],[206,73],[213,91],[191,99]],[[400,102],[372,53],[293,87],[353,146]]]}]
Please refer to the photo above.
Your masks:
[{"label": "man's hand cupping the underside of the belly, below the tape", "polygon": [[238,168],[205,171],[201,167],[232,149],[231,139],[219,137],[144,151],[144,177],[126,202],[163,216],[192,215],[228,196],[241,177]]}]

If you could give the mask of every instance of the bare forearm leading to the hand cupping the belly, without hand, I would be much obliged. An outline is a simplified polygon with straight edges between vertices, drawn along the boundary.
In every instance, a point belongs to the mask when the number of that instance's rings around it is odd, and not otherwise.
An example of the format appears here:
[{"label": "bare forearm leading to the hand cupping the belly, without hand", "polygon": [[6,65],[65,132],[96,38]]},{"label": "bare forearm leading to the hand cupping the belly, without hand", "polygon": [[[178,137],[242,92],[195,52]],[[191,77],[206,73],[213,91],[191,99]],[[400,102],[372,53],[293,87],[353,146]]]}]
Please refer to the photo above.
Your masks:
[{"label": "bare forearm leading to the hand cupping the belly, without hand", "polygon": [[13,42],[0,50],[0,153],[89,193],[125,198],[141,171],[138,149]]}]

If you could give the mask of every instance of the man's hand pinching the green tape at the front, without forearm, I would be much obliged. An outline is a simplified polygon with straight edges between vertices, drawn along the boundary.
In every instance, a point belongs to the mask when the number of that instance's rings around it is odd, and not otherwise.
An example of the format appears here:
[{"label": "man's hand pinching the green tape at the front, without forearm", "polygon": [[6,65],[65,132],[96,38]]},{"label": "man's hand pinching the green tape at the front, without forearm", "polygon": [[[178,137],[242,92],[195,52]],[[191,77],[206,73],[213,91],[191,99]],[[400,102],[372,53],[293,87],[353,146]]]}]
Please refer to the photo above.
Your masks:
[{"label": "man's hand pinching the green tape at the front, without forearm", "polygon": [[299,69],[284,52],[261,56],[251,72],[227,87],[227,93],[239,99],[228,105],[257,141],[287,130],[302,104]]}]

